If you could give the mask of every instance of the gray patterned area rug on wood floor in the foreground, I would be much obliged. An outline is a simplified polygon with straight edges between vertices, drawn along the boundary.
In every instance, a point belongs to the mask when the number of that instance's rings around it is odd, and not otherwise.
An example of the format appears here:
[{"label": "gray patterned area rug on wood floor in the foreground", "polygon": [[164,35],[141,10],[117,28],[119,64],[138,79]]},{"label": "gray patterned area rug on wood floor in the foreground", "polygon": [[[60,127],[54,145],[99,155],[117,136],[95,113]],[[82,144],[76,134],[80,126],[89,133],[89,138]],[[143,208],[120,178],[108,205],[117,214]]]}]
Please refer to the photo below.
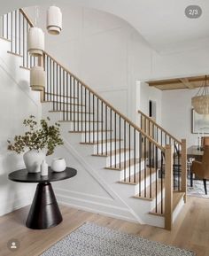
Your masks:
[{"label": "gray patterned area rug on wood floor in the foreground", "polygon": [[41,256],[195,256],[194,252],[152,242],[87,222]]}]

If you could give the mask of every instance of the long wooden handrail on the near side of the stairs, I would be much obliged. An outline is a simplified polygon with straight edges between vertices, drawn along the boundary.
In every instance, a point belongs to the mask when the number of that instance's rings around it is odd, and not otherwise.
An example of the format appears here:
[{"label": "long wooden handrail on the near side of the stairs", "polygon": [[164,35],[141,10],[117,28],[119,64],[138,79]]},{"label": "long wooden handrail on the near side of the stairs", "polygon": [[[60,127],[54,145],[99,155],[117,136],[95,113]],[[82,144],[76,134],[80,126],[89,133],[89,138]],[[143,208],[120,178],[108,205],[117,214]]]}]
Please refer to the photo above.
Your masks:
[{"label": "long wooden handrail on the near side of the stairs", "polygon": [[46,51],[44,51],[45,55],[47,55],[48,57],[50,57],[55,63],[57,63],[58,66],[61,66],[63,70],[66,71],[66,73],[70,74],[72,77],[74,77],[74,79],[76,81],[79,81],[86,89],[89,89],[89,91],[96,96],[97,98],[99,98],[105,105],[109,106],[112,111],[116,112],[118,115],[120,115],[120,117],[124,120],[126,120],[133,128],[135,128],[135,130],[137,130],[138,132],[140,132],[144,137],[146,137],[152,144],[155,144],[161,151],[165,152],[165,148],[163,146],[161,146],[160,144],[158,144],[155,140],[153,140],[151,138],[151,136],[148,136],[145,132],[143,132],[143,130],[139,127],[137,127],[135,125],[135,123],[132,120],[129,120],[123,113],[119,112],[116,108],[114,108],[110,103],[108,103],[103,97],[99,96],[97,94],[96,91],[94,91],[93,89],[91,89],[85,82],[81,81],[81,79],[79,79],[76,75],[72,74],[65,66],[61,65],[55,58],[53,58],[52,56],[50,56],[49,53],[47,53]]}]

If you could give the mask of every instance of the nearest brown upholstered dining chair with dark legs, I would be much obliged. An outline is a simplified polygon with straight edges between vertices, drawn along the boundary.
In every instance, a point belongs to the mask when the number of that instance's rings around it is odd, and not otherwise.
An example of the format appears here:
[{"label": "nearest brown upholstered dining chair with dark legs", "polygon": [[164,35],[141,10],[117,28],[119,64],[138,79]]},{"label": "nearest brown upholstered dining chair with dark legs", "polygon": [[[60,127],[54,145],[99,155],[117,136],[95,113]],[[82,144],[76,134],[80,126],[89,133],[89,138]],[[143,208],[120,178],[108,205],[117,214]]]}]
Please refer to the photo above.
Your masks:
[{"label": "nearest brown upholstered dining chair with dark legs", "polygon": [[191,164],[191,187],[193,186],[193,174],[203,180],[205,195],[207,195],[206,180],[209,180],[209,145],[205,145],[202,162],[193,161]]}]

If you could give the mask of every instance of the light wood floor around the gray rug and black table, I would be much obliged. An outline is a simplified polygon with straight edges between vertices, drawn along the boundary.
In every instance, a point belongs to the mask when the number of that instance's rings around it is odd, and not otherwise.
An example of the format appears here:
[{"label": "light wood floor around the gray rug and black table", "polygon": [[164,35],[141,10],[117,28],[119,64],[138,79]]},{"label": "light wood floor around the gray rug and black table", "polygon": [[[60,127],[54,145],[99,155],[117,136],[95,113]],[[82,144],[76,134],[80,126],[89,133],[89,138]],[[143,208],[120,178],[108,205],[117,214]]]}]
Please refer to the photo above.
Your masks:
[{"label": "light wood floor around the gray rug and black table", "polygon": [[[87,213],[67,206],[60,206],[60,209],[64,221],[55,228],[45,230],[32,230],[25,227],[28,207],[1,217],[0,255],[39,255],[85,221],[92,221],[111,229],[189,249],[195,251],[197,256],[209,256],[209,199],[188,198],[188,203],[175,221],[174,229],[171,232],[95,213]],[[10,252],[7,249],[7,241],[11,238],[20,241],[20,248],[16,252]]]}]

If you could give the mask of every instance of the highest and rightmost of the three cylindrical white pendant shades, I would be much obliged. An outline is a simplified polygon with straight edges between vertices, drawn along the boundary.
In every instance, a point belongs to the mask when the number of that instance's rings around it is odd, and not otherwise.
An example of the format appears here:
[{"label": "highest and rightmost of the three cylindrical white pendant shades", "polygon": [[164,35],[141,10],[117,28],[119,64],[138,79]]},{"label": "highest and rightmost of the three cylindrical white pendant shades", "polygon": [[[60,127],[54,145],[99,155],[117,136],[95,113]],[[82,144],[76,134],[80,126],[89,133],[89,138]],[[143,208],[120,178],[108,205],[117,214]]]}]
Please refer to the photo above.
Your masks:
[{"label": "highest and rightmost of the three cylindrical white pendant shades", "polygon": [[62,12],[57,6],[50,6],[47,12],[47,30],[51,35],[59,35],[62,30]]}]

